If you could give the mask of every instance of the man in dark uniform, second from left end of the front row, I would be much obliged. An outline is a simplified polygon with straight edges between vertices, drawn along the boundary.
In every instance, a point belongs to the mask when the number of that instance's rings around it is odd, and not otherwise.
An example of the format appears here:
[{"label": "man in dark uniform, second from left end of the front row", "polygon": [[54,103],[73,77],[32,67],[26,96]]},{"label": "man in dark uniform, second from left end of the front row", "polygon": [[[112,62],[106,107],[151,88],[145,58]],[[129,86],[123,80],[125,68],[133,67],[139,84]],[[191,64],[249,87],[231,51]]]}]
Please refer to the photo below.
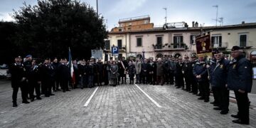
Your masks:
[{"label": "man in dark uniform, second from left end of the front row", "polygon": [[30,87],[29,95],[31,96],[31,102],[34,101],[34,91],[36,90],[36,99],[41,100],[41,92],[40,92],[40,85],[41,85],[41,74],[40,68],[36,64],[36,60],[32,60],[32,66],[28,70],[28,85]]}]

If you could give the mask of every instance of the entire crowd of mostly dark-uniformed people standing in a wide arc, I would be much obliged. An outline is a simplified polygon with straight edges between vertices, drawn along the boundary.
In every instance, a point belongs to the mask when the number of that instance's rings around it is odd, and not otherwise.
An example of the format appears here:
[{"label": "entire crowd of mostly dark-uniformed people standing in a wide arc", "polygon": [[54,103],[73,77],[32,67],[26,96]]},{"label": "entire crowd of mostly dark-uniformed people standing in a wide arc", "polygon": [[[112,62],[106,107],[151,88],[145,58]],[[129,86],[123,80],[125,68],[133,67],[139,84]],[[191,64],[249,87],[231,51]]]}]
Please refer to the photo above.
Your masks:
[{"label": "entire crowd of mostly dark-uniformed people standing in a wide arc", "polygon": [[[214,101],[210,102],[220,110],[220,114],[228,114],[229,90],[234,90],[238,103],[238,114],[232,114],[233,120],[239,124],[249,124],[249,99],[247,93],[252,88],[252,67],[250,61],[242,56],[240,47],[233,46],[231,51],[233,60],[224,58],[218,50],[213,53],[213,58],[206,58],[195,53],[169,58],[130,58],[126,60],[115,59],[101,60],[73,60],[74,76],[70,74],[70,63],[67,59],[46,58],[43,63],[27,55],[22,63],[22,58],[15,58],[15,63],[10,66],[11,86],[13,92],[13,107],[17,107],[18,87],[21,87],[22,102],[28,104],[41,100],[41,95],[50,97],[53,92],[69,88],[81,89],[103,85],[122,84],[149,84],[149,85],[174,85],[193,95],[198,95],[198,100],[209,102],[210,90],[213,91]],[[191,58],[191,59],[189,59]],[[129,79],[127,78],[129,77]],[[136,78],[134,82],[134,78]],[[71,86],[70,86],[71,85]],[[36,95],[34,95],[36,92]]]}]

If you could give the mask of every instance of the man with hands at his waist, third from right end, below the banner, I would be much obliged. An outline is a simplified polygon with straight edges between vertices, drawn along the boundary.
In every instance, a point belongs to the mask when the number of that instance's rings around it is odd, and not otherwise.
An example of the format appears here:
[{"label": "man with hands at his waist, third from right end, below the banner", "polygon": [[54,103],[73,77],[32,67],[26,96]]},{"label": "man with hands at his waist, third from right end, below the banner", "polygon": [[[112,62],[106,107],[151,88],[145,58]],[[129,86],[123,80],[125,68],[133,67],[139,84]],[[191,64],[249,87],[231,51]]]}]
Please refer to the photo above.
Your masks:
[{"label": "man with hands at his waist, third from right end, below the banner", "polygon": [[193,75],[196,77],[198,81],[198,86],[201,88],[200,93],[201,97],[198,100],[204,100],[204,102],[209,102],[210,96],[210,84],[208,81],[208,70],[206,68],[206,62],[203,56],[199,57],[198,62],[196,63],[195,67],[193,68]]}]

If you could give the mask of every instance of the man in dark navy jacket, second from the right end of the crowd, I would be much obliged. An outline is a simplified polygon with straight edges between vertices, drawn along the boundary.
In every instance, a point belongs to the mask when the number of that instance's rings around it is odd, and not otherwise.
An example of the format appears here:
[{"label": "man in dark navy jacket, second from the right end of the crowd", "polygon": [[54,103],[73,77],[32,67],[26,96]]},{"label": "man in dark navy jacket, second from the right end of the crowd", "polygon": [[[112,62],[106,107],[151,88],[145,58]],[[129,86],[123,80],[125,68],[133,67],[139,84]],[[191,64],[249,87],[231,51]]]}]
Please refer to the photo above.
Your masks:
[{"label": "man in dark navy jacket, second from the right end of the crowd", "polygon": [[220,53],[218,50],[215,52],[214,57],[216,59],[216,66],[213,69],[213,72],[210,73],[210,85],[215,87],[219,107],[213,109],[221,110],[220,114],[228,114],[230,92],[225,85],[227,84],[228,65],[230,62],[225,60],[225,58],[223,58],[223,53]]}]

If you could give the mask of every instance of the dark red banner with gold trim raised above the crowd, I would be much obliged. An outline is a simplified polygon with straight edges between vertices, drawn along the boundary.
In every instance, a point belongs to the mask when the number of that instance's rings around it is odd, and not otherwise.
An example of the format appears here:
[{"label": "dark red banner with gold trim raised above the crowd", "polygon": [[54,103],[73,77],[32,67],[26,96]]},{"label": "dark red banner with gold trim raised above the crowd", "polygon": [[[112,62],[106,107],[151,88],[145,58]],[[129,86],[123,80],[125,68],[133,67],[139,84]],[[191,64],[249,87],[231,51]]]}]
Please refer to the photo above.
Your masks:
[{"label": "dark red banner with gold trim raised above the crowd", "polygon": [[196,53],[198,54],[198,56],[212,55],[210,34],[196,38]]}]

